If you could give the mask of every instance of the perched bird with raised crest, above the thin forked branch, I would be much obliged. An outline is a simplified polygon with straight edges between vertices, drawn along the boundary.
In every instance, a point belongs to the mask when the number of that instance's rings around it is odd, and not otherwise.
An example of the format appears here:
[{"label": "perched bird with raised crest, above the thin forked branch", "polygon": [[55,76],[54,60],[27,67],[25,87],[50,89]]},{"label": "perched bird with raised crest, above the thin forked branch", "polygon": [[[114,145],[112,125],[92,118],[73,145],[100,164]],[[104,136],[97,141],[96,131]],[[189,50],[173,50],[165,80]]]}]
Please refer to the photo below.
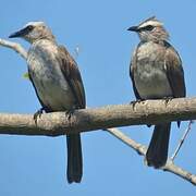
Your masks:
[{"label": "perched bird with raised crest, above the thin forked branch", "polygon": [[[140,42],[136,47],[130,66],[130,76],[137,100],[185,97],[182,61],[168,42],[169,34],[155,16],[132,26]],[[180,122],[177,122],[180,125]],[[171,122],[155,125],[146,154],[148,166],[160,168],[168,159]]]}]

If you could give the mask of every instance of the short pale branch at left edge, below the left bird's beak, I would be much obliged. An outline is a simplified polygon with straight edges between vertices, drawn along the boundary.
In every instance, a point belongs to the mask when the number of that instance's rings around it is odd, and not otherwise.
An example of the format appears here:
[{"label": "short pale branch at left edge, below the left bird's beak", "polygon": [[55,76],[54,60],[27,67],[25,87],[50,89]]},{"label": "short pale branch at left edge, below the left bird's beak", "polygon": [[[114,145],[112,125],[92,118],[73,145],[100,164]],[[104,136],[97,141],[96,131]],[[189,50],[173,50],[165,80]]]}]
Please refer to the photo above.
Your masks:
[{"label": "short pale branch at left edge, below the left bird's beak", "polygon": [[9,41],[9,40],[4,40],[4,39],[0,38],[0,46],[3,46],[3,47],[14,50],[19,54],[21,54],[21,57],[25,60],[27,58],[26,50],[17,42],[13,42],[13,41]]}]

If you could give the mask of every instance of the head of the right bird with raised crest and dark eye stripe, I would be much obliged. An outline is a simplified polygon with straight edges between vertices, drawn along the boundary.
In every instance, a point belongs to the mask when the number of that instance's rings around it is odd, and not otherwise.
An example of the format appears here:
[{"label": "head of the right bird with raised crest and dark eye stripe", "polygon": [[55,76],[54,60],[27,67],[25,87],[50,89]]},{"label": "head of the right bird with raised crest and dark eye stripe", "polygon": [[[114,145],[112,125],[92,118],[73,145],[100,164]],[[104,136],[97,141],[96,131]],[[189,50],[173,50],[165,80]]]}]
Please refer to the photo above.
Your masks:
[{"label": "head of the right bird with raised crest and dark eye stripe", "polygon": [[149,17],[138,26],[132,26],[127,30],[136,32],[142,41],[162,41],[169,39],[168,32],[156,16]]}]

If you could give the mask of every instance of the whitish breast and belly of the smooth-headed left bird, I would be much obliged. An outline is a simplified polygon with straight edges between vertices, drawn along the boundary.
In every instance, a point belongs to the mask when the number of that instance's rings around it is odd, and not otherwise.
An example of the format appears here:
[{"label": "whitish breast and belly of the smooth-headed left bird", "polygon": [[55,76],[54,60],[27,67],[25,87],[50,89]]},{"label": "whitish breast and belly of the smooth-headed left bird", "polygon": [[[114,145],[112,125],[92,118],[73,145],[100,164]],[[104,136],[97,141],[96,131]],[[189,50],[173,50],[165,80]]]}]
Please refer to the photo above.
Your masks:
[{"label": "whitish breast and belly of the smooth-headed left bird", "polygon": [[28,70],[37,94],[53,111],[71,109],[74,97],[57,59],[57,46],[48,40],[34,44],[28,52]]}]

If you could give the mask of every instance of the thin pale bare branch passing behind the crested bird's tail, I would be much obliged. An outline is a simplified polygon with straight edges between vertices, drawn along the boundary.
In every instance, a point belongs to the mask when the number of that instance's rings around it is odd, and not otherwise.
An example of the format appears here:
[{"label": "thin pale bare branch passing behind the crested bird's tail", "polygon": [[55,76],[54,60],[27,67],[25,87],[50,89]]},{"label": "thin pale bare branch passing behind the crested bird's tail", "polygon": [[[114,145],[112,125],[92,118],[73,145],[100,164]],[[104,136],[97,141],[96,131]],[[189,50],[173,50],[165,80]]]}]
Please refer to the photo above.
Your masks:
[{"label": "thin pale bare branch passing behind the crested bird's tail", "polygon": [[[131,148],[133,148],[135,151],[137,151],[139,155],[145,156],[147,147],[136,143],[135,140],[127,137],[125,134],[123,134],[118,128],[106,128],[110,134],[115,136],[118,139],[122,140],[124,144],[128,145]],[[196,175],[189,173],[188,171],[175,166],[171,159],[167,161],[167,164],[162,168],[160,168],[162,171],[168,171],[173,174],[176,174],[177,176],[186,180],[187,182],[191,182],[192,184],[196,185]]]}]

